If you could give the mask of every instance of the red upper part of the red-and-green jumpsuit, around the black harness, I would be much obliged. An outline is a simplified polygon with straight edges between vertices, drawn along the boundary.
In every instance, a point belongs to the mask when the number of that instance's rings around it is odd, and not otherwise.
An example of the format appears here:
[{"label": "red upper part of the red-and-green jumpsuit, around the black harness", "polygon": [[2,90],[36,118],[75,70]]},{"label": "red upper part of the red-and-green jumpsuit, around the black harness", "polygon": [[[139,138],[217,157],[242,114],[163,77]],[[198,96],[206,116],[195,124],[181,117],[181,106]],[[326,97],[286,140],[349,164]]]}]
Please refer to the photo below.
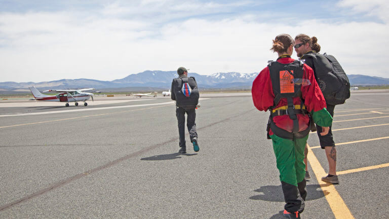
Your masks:
[{"label": "red upper part of the red-and-green jumpsuit, around the black harness", "polygon": [[[294,59],[290,57],[281,58],[277,60],[280,63],[292,63]],[[326,101],[323,97],[322,91],[319,88],[318,83],[315,80],[314,71],[308,65],[304,64],[304,74],[303,79],[308,79],[311,83],[309,86],[302,86],[302,98],[304,99],[304,104],[308,112],[317,112],[321,111],[326,107]],[[274,104],[275,95],[273,93],[273,86],[271,85],[271,79],[269,75],[269,68],[265,67],[255,78],[253,86],[251,89],[253,102],[255,107],[259,111],[267,111],[270,106]],[[299,97],[293,98],[294,105],[300,105],[301,101]],[[281,98],[280,102],[276,107],[287,106],[288,102],[286,98]],[[309,124],[309,117],[307,115],[298,114],[297,115],[299,122],[299,131],[305,130]],[[273,118],[274,123],[289,132],[293,130],[293,121],[289,118],[288,115],[275,116]],[[269,131],[269,135],[272,135],[273,131]]]}]

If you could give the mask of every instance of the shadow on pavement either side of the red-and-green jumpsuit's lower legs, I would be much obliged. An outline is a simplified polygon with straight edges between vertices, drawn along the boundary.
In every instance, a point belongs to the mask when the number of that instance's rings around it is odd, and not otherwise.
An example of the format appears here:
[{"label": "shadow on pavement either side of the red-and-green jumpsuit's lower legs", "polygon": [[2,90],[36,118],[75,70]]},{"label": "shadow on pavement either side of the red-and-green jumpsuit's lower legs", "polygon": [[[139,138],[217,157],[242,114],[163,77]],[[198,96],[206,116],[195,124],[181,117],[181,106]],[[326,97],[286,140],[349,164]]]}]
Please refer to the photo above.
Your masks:
[{"label": "shadow on pavement either side of the red-and-green jumpsuit's lower legs", "polygon": [[[307,196],[306,201],[320,199],[324,197],[323,191],[320,189],[320,185],[306,185]],[[264,200],[270,202],[285,202],[284,194],[282,193],[282,187],[280,186],[263,186],[254,192],[262,193],[260,195],[251,196],[252,200]],[[325,191],[326,192],[326,191]],[[273,218],[273,217],[272,217]],[[278,218],[278,217],[275,217]]]}]

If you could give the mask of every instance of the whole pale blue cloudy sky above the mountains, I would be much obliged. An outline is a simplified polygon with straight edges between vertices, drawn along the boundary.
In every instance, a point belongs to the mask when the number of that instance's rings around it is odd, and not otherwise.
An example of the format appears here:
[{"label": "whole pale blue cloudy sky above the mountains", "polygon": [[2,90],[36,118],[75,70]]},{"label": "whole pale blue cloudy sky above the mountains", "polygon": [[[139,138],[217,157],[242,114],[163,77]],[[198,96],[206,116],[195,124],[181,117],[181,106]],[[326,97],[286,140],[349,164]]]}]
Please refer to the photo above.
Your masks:
[{"label": "whole pale blue cloudy sky above the mountains", "polygon": [[348,75],[389,78],[387,11],[384,0],[0,0],[0,82],[259,72],[280,33],[316,36]]}]

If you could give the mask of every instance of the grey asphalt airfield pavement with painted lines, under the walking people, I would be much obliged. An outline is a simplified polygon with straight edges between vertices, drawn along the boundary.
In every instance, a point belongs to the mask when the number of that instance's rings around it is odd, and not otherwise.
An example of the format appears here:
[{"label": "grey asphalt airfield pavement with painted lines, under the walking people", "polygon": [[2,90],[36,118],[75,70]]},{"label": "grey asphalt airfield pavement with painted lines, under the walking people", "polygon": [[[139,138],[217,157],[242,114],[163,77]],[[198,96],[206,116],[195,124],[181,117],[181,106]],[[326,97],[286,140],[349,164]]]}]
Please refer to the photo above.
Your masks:
[{"label": "grey asphalt airfield pavement with painted lines, under the walking people", "polygon": [[[302,218],[387,218],[388,94],[357,91],[335,107],[340,184],[319,180],[328,162],[310,133]],[[200,152],[187,143],[185,155],[169,98],[0,102],[0,218],[283,218],[268,113],[249,93],[202,97]]]}]

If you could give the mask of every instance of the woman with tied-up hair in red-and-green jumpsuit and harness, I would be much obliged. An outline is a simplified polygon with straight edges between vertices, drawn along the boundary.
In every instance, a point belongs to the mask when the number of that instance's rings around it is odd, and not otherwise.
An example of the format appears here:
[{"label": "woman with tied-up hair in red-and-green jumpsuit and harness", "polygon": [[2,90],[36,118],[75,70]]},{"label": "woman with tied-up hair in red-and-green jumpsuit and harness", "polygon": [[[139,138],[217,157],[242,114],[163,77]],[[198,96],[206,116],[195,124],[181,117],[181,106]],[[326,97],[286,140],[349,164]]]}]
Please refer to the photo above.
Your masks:
[{"label": "woman with tied-up hair in red-and-green jumpsuit and harness", "polygon": [[267,136],[273,142],[277,168],[285,198],[284,215],[300,218],[305,207],[304,147],[311,116],[328,133],[332,117],[315,80],[312,68],[291,58],[294,40],[280,34],[270,50],[278,53],[277,61],[269,61],[252,86],[252,98],[259,111],[270,111]]}]

